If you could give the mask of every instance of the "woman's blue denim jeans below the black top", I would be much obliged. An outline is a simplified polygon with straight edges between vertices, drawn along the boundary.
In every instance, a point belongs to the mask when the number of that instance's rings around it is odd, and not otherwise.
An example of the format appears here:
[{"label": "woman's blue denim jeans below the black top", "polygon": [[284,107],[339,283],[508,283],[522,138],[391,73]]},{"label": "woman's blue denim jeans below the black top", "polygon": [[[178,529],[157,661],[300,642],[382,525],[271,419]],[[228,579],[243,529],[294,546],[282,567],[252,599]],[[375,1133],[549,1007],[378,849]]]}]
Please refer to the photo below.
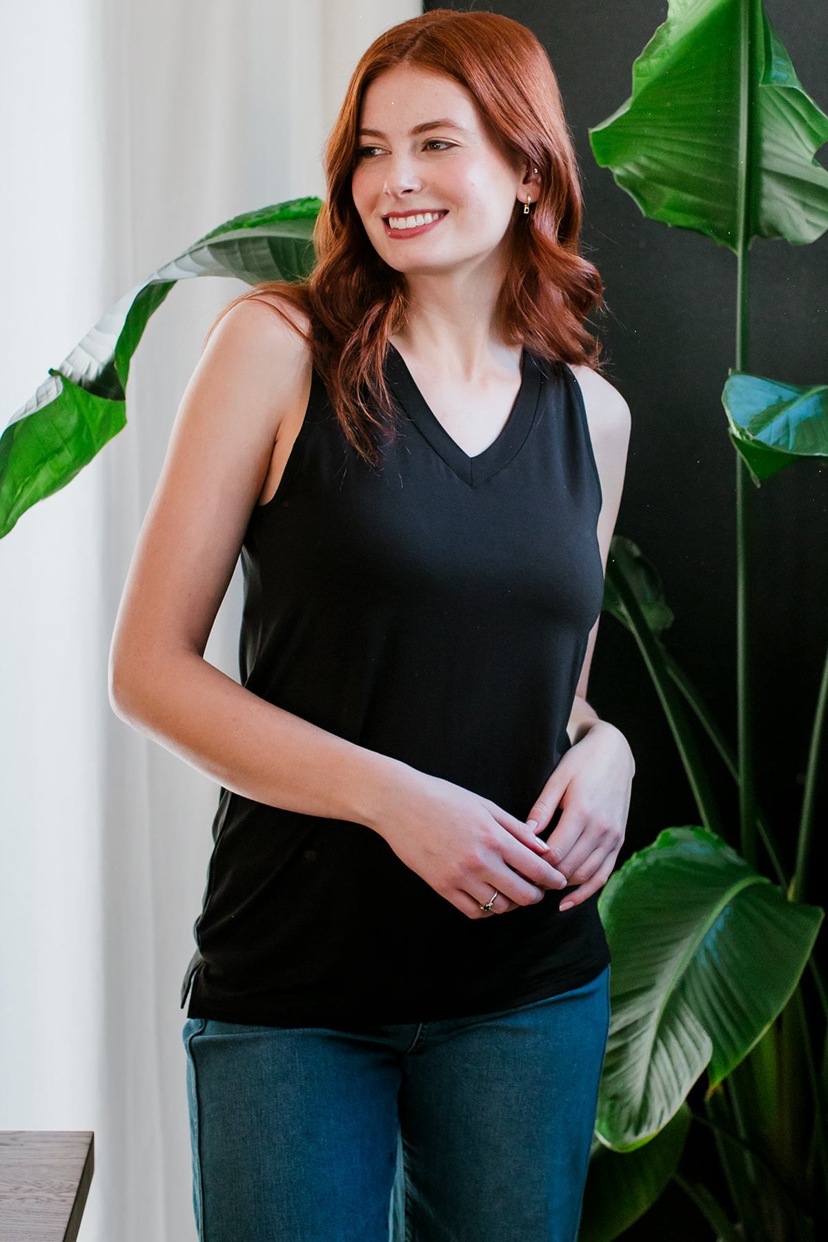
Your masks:
[{"label": "woman's blue denim jeans below the black top", "polygon": [[575,1242],[610,969],[360,1033],[186,1018],[200,1242]]}]

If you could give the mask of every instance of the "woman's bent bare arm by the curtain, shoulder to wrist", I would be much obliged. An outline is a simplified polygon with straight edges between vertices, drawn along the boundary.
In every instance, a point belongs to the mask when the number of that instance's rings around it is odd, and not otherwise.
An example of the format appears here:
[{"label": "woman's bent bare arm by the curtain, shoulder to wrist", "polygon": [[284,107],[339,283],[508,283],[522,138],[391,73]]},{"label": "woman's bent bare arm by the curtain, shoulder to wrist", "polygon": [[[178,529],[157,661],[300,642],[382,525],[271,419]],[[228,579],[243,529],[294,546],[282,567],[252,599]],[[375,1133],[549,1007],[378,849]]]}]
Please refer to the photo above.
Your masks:
[{"label": "woman's bent bare arm by the curtain, shoulder to wrist", "polygon": [[212,333],[127,576],[109,697],[120,719],[243,797],[366,822],[405,765],[267,703],[204,660],[309,366],[302,338],[258,302],[233,307]]}]

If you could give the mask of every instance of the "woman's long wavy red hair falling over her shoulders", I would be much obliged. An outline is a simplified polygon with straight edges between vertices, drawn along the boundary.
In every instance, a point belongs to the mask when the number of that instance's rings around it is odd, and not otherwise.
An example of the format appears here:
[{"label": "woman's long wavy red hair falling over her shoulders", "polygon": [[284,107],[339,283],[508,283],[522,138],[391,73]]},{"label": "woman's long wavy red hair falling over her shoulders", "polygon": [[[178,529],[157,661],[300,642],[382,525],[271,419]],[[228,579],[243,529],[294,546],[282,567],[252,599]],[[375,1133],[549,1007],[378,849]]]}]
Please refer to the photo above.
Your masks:
[{"label": "woman's long wavy red hair falling over her shoulders", "polygon": [[550,361],[595,370],[601,351],[583,320],[603,307],[603,286],[597,268],[578,253],[577,160],[545,48],[526,26],[497,12],[434,9],[402,21],[360,58],[325,144],[328,194],[314,224],[317,263],[309,278],[253,286],[220,312],[204,343],[231,307],[261,293],[299,309],[309,334],[273,306],[309,345],[346,438],[372,463],[380,456],[377,430],[394,436],[384,363],[389,338],[406,323],[406,282],[371,245],[354,205],[351,176],[365,92],[398,65],[442,73],[466,87],[506,160],[531,160],[539,170],[540,196],[529,216],[515,202],[519,210],[505,238],[506,276],[495,306],[503,340]]}]

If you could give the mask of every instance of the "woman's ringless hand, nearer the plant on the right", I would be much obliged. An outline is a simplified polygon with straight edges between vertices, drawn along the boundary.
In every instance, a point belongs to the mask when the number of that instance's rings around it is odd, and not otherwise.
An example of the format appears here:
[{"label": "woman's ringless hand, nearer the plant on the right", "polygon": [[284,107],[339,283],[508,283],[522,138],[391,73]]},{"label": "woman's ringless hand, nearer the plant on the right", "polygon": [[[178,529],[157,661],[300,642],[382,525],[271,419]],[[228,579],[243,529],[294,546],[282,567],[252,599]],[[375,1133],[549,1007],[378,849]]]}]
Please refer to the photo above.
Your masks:
[{"label": "woman's ringless hand, nearer the plant on the right", "polygon": [[610,878],[624,842],[636,761],[619,729],[608,720],[596,720],[590,730],[566,750],[526,816],[535,821],[535,835],[549,825],[559,802],[561,817],[550,832],[544,857],[562,871],[569,884],[560,904],[565,910],[578,905]]}]

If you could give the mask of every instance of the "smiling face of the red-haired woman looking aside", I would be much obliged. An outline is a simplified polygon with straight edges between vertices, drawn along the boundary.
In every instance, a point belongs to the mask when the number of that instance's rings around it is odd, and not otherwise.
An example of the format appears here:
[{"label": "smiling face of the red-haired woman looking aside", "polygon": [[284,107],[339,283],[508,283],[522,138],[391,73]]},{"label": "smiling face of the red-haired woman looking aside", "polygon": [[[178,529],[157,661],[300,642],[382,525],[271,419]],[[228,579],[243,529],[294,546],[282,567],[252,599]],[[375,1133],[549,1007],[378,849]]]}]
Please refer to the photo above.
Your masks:
[{"label": "smiling face of the red-haired woman looking aside", "polygon": [[[526,164],[510,166],[464,87],[443,75],[397,66],[366,89],[359,124],[354,205],[390,267],[407,276],[439,274],[497,260],[519,210]],[[428,128],[416,133],[420,125]],[[520,197],[526,193],[536,196],[524,186]],[[426,212],[441,219],[395,227]]]}]

